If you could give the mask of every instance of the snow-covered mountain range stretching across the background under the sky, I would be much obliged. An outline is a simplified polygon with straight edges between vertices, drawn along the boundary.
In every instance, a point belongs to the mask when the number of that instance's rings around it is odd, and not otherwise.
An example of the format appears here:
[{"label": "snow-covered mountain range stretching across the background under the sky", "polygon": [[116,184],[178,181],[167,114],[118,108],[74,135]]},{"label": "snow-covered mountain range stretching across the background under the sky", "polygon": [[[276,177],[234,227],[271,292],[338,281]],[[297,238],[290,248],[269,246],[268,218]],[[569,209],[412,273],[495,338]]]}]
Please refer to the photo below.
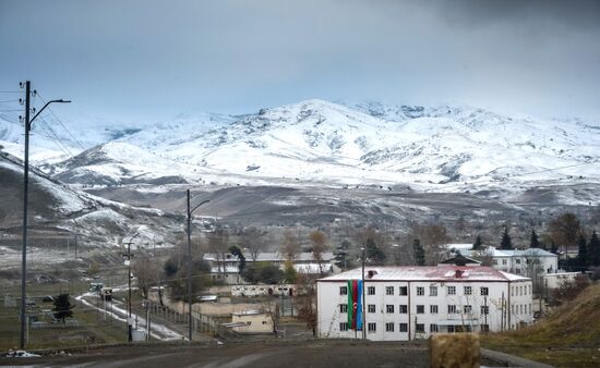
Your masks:
[{"label": "snow-covered mountain range stretching across the background under the sky", "polygon": [[[19,155],[19,126],[5,125],[0,144]],[[471,108],[307,100],[248,115],[74,131],[89,148],[65,160],[51,155],[51,142],[33,143],[35,162],[67,183],[316,182],[452,192],[600,180],[599,123]],[[68,136],[62,142],[76,150]]]}]

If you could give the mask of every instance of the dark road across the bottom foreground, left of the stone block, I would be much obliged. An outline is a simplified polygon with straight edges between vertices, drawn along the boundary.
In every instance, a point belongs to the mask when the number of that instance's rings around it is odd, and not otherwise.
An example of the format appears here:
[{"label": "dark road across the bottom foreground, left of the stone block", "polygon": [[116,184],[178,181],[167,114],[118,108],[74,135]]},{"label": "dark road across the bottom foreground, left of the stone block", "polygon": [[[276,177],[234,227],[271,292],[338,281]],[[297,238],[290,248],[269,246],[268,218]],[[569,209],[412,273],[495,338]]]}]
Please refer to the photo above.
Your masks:
[{"label": "dark road across the bottom foreground, left of the stone block", "polygon": [[427,345],[300,341],[224,345],[132,345],[70,357],[0,358],[0,366],[44,367],[408,367],[429,366]]}]

